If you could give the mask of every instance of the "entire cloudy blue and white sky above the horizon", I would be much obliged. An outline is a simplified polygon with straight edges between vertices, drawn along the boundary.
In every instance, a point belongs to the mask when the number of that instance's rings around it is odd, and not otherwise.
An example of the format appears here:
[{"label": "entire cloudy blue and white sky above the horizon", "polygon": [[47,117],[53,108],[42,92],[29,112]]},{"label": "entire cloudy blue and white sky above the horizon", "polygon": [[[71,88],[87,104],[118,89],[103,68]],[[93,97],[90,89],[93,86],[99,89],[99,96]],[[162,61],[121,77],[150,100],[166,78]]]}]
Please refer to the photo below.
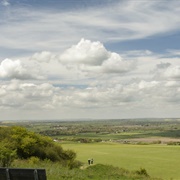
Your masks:
[{"label": "entire cloudy blue and white sky above the horizon", "polygon": [[180,117],[179,0],[0,0],[0,120]]}]

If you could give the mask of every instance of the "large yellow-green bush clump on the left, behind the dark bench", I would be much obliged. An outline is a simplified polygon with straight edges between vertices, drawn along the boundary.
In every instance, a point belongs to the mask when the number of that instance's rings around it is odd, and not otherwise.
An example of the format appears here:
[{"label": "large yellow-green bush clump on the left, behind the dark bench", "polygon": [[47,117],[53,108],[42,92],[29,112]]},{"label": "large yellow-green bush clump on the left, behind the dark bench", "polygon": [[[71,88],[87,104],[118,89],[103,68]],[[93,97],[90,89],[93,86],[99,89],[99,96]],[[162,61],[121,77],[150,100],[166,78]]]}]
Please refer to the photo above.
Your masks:
[{"label": "large yellow-green bush clump on the left, behind the dark bench", "polygon": [[29,159],[36,157],[40,160],[48,159],[60,162],[70,168],[77,166],[76,153],[64,150],[49,137],[27,131],[22,127],[0,128],[0,165],[7,167],[15,157]]}]

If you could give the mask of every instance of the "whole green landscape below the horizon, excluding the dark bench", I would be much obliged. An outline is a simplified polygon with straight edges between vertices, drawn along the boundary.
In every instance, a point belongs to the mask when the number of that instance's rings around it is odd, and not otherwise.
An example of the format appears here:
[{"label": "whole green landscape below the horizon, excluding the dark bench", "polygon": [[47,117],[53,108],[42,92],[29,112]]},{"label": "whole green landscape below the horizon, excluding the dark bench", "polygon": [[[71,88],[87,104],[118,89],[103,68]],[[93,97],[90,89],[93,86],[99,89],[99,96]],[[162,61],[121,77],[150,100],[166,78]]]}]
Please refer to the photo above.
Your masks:
[{"label": "whole green landscape below the horizon, excluding the dark bench", "polygon": [[26,162],[49,180],[180,179],[180,119],[1,121],[0,134],[13,159],[1,148],[1,166]]}]

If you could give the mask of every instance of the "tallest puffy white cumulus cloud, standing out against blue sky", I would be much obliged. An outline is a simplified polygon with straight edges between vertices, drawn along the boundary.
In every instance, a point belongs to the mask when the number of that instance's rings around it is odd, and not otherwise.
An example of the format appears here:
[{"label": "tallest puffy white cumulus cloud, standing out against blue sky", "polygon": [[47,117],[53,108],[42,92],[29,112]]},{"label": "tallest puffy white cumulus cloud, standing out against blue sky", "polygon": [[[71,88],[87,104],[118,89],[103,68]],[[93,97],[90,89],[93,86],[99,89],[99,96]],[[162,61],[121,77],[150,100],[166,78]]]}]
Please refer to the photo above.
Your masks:
[{"label": "tallest puffy white cumulus cloud, standing out against blue sky", "polygon": [[60,55],[60,62],[69,66],[77,65],[82,72],[125,73],[135,63],[124,60],[119,54],[108,51],[100,42],[81,39]]}]

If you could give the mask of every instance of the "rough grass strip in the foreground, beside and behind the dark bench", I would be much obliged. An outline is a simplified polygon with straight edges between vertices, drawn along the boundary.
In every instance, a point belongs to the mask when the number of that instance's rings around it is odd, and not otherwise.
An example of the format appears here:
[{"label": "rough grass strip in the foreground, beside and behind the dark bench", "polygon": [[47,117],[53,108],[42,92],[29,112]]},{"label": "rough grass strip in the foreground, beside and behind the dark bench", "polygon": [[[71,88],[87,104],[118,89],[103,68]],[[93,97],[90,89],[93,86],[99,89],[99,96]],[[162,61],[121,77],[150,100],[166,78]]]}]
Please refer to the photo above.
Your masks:
[{"label": "rough grass strip in the foreground, beside and behind the dark bench", "polygon": [[143,171],[130,172],[111,165],[96,164],[84,169],[68,169],[59,163],[39,161],[32,163],[27,160],[16,160],[13,167],[18,168],[45,168],[48,180],[155,180]]}]

